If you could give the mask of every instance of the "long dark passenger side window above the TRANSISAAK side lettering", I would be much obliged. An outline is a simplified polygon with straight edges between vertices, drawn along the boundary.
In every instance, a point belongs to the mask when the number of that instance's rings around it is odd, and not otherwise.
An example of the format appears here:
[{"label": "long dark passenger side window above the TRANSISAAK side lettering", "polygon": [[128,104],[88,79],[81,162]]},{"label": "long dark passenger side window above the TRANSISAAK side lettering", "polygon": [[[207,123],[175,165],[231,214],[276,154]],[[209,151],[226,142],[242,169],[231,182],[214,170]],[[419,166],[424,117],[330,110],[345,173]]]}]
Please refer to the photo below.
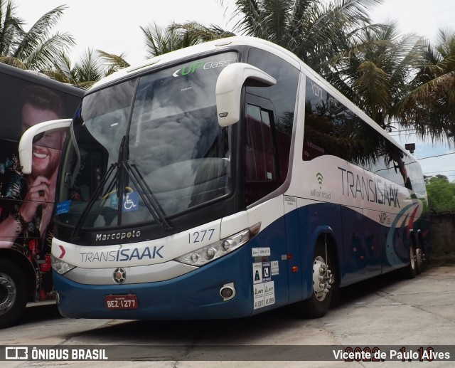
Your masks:
[{"label": "long dark passenger side window above the TRANSISAAK side lettering", "polygon": [[[409,172],[419,167],[399,147],[309,78],[306,79],[304,152],[309,161],[323,154],[346,159],[392,182],[414,189]],[[418,175],[414,182],[418,182]]]}]

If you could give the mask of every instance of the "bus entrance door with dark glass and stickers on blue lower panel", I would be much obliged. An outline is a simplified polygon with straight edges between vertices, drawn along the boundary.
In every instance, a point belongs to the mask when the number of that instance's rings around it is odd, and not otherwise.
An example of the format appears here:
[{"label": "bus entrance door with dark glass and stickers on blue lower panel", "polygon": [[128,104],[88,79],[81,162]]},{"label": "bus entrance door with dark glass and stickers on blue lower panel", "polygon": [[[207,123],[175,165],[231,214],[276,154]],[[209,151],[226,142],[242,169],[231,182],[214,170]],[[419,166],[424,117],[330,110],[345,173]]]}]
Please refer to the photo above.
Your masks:
[{"label": "bus entrance door with dark glass and stickers on blue lower panel", "polygon": [[[282,195],[271,196],[286,179],[291,138],[280,132],[273,104],[267,98],[245,95],[244,192],[250,221],[269,223],[252,241],[254,255],[254,294],[272,293],[275,307],[289,300],[287,273],[287,225]],[[286,153],[284,153],[286,152]],[[264,199],[264,203],[257,204]],[[269,218],[269,219],[267,219]],[[264,221],[267,219],[267,221]],[[256,221],[256,220],[255,220]],[[253,221],[253,223],[255,223]],[[257,254],[256,254],[256,253]],[[299,259],[299,258],[297,258]],[[260,275],[259,268],[262,268]],[[265,305],[271,298],[265,298]],[[259,304],[255,303],[255,309]]]}]

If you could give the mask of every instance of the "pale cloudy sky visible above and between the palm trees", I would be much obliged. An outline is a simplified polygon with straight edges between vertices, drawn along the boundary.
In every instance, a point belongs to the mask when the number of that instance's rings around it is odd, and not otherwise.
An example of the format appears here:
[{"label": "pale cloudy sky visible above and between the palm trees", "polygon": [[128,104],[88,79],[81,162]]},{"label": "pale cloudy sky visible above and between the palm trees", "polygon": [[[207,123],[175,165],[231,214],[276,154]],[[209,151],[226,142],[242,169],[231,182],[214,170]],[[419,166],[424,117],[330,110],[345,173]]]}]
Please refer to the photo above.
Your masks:
[{"label": "pale cloudy sky visible above and between the palm trees", "polygon": [[[130,64],[141,63],[146,59],[144,33],[140,27],[167,26],[175,21],[198,21],[205,25],[215,24],[232,30],[234,21],[234,0],[223,0],[228,6],[225,11],[217,0],[14,0],[18,16],[26,22],[26,30],[40,16],[57,6],[65,5],[62,18],[56,31],[70,33],[77,43],[70,53],[77,61],[80,55],[89,48],[107,53],[121,54]],[[384,0],[372,12],[373,21],[385,22],[396,20],[403,33],[417,33],[434,39],[440,27],[451,27],[455,30],[454,0]],[[444,174],[451,181],[455,180],[455,147],[446,142],[421,142],[416,137],[392,132],[395,139],[403,145],[416,143],[414,156],[420,159],[424,174]],[[447,154],[454,152],[454,154]],[[436,155],[439,157],[425,158]]]}]

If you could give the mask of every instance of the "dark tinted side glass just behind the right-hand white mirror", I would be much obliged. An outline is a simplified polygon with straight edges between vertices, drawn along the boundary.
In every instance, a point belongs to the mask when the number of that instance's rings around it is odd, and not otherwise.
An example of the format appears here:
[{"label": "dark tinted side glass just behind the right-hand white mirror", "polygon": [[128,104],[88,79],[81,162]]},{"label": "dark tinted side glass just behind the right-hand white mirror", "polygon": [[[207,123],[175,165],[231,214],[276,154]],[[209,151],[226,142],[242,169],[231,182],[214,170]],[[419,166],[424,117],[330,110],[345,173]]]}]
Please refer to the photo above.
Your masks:
[{"label": "dark tinted side glass just behind the right-hand white mirror", "polygon": [[287,177],[299,70],[278,56],[252,49],[248,63],[277,84],[247,87],[245,109],[245,203],[277,189]]}]

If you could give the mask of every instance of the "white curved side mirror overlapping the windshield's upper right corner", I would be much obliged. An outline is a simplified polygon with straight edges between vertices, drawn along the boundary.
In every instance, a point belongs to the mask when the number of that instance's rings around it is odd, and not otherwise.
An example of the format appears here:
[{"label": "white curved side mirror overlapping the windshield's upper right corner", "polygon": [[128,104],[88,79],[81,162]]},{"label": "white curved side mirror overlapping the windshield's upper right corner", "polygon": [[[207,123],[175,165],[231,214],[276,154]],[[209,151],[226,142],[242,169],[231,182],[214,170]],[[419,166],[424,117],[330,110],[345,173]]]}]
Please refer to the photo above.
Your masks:
[{"label": "white curved side mirror overlapping the windshield's upper right corner", "polygon": [[247,79],[264,87],[277,84],[275,78],[247,63],[233,63],[221,70],[215,88],[218,124],[221,127],[240,120],[242,85]]}]

